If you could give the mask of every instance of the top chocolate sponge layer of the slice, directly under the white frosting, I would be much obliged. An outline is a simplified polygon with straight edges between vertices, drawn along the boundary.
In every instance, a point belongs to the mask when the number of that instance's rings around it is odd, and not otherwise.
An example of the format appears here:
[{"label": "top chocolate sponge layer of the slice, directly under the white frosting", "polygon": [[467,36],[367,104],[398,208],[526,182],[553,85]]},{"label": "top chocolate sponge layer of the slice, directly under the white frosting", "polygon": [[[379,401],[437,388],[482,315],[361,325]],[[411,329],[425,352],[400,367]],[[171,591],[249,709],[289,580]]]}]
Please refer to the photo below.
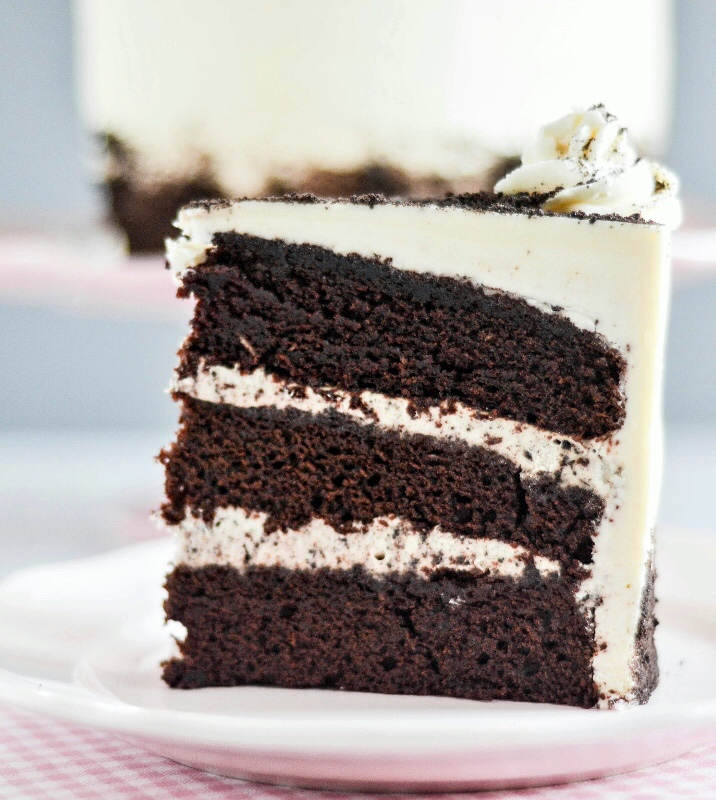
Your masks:
[{"label": "top chocolate sponge layer of the slice, directly under the white frosting", "polygon": [[625,362],[559,314],[467,281],[235,233],[180,294],[198,298],[179,376],[201,361],[312,388],[465,405],[559,433],[618,429]]}]

